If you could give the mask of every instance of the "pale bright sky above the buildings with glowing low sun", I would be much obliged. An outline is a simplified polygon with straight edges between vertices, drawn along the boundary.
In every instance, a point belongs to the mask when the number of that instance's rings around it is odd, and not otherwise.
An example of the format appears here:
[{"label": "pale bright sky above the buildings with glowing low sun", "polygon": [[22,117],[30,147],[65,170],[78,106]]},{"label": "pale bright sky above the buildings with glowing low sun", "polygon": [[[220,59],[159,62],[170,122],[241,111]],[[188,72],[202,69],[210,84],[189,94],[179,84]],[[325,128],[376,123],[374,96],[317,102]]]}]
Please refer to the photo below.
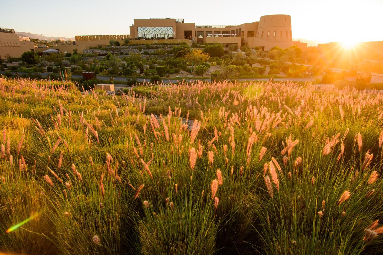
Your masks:
[{"label": "pale bright sky above the buildings with glowing low sun", "polygon": [[0,0],[0,9],[0,27],[44,36],[129,34],[133,19],[237,25],[288,14],[293,38],[383,41],[383,0]]}]

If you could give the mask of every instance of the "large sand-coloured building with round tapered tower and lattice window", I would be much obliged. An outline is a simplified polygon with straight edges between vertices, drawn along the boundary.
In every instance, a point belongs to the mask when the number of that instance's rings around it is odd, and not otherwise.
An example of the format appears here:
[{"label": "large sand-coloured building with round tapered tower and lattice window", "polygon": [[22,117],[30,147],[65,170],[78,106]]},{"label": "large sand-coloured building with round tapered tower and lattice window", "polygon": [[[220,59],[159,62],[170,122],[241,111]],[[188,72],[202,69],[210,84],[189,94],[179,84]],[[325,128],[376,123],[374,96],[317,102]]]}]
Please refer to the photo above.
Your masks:
[{"label": "large sand-coloured building with round tapered tower and lattice window", "polygon": [[259,21],[240,25],[195,25],[183,19],[134,19],[130,37],[135,40],[187,39],[193,42],[217,42],[248,45],[269,50],[293,45],[290,15],[266,15]]}]

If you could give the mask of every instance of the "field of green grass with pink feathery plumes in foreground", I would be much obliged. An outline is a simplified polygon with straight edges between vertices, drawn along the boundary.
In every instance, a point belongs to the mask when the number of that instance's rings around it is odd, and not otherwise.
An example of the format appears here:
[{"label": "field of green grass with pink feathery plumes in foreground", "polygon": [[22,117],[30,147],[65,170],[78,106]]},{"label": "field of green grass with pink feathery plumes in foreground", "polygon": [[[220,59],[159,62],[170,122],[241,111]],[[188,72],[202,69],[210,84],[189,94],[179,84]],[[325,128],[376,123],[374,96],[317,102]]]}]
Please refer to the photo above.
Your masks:
[{"label": "field of green grass with pink feathery plumes in foreground", "polygon": [[0,252],[382,253],[382,116],[334,85],[0,81]]}]

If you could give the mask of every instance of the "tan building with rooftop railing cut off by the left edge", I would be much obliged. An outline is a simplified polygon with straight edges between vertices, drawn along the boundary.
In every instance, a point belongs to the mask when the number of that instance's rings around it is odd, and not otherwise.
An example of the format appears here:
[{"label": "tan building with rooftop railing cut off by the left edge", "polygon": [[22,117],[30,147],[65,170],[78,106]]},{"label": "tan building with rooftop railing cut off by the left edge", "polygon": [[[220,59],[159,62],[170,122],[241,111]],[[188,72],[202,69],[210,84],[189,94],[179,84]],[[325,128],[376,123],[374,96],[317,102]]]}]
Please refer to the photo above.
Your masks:
[{"label": "tan building with rooftop railing cut off by the left edge", "polygon": [[0,28],[0,58],[21,57],[26,51],[34,51],[33,41],[19,41],[14,29]]}]

